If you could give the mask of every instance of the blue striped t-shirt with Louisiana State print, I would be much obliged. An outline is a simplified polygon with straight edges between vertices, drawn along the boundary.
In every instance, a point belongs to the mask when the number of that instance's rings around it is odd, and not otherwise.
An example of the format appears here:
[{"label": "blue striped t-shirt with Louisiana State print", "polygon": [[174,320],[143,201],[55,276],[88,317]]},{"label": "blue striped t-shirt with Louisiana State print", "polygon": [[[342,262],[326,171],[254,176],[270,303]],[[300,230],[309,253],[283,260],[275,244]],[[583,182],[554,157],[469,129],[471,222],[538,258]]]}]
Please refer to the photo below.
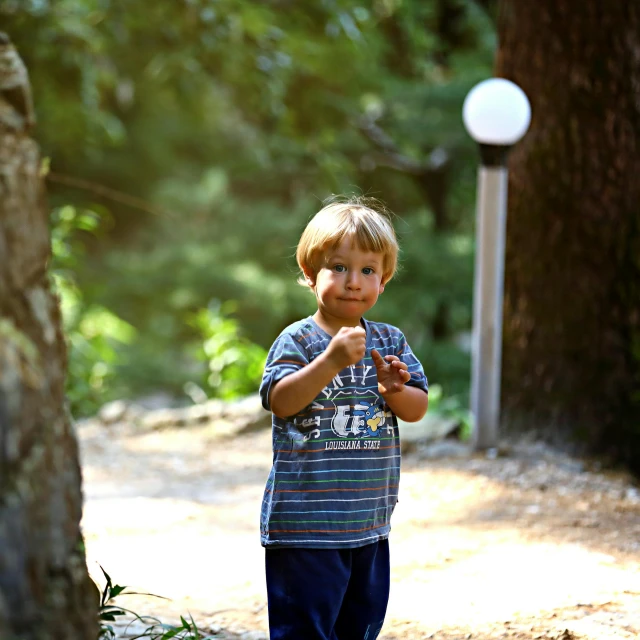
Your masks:
[{"label": "blue striped t-shirt with Louisiana State print", "polygon": [[[351,548],[389,535],[398,500],[400,440],[395,415],[378,393],[371,349],[408,366],[406,384],[428,392],[422,365],[399,329],[363,320],[365,357],[340,371],[316,399],[286,419],[273,414],[273,467],[262,501],[263,546]],[[312,317],[274,342],[260,395],[327,348],[331,336]]]}]

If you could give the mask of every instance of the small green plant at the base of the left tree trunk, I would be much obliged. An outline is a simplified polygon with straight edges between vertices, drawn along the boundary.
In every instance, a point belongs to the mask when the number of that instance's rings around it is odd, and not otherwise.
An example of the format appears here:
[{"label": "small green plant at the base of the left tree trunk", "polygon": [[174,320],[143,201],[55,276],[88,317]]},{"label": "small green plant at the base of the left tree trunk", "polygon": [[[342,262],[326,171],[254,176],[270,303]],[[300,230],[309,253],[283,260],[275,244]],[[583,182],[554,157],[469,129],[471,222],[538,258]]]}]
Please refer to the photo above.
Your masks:
[{"label": "small green plant at the base of the left tree trunk", "polygon": [[[135,621],[146,625],[145,629],[138,635],[129,635],[128,637],[130,640],[136,640],[137,638],[150,638],[151,640],[170,640],[171,638],[176,638],[177,640],[209,640],[212,638],[212,636],[203,635],[200,629],[198,629],[191,614],[189,614],[189,620],[184,616],[180,616],[180,625],[174,626],[163,623],[152,616],[141,616],[135,611],[125,609],[124,607],[115,604],[114,600],[121,595],[144,595],[152,596],[154,598],[162,598],[162,596],[157,596],[152,593],[127,591],[129,587],[123,587],[118,584],[114,585],[111,581],[111,577],[102,566],[100,569],[104,574],[106,584],[104,589],[101,591],[100,606],[98,608],[98,621],[100,623],[98,640],[115,640],[117,637],[116,631],[109,623],[115,622],[118,618],[126,618],[126,616],[131,616],[133,618],[129,622],[128,626]],[[163,598],[163,600],[166,599],[167,598]]]}]

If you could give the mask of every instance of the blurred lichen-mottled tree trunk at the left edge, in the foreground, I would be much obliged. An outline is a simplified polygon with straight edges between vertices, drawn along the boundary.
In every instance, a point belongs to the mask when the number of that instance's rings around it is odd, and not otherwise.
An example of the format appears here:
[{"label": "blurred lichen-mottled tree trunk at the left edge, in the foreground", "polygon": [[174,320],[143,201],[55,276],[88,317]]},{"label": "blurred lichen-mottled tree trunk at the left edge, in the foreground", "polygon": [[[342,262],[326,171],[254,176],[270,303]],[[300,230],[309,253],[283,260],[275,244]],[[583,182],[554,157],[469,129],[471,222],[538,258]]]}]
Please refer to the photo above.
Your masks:
[{"label": "blurred lichen-mottled tree trunk at the left edge, in the foreground", "polygon": [[93,639],[66,351],[26,71],[0,34],[0,638]]}]

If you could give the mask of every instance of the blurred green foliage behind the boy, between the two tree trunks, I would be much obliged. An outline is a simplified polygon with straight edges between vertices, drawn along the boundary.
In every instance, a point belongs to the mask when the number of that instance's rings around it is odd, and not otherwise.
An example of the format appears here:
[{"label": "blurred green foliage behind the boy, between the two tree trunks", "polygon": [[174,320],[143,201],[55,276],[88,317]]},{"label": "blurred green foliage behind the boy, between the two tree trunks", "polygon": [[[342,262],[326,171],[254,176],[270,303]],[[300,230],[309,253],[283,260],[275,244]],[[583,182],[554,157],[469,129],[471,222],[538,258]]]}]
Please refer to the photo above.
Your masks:
[{"label": "blurred green foliage behind the boy, between the two tree trunks", "polygon": [[255,390],[275,335],[313,311],[293,256],[332,193],[398,215],[403,269],[371,317],[466,406],[476,151],[460,106],[491,74],[490,11],[4,0],[48,158],[74,414]]}]

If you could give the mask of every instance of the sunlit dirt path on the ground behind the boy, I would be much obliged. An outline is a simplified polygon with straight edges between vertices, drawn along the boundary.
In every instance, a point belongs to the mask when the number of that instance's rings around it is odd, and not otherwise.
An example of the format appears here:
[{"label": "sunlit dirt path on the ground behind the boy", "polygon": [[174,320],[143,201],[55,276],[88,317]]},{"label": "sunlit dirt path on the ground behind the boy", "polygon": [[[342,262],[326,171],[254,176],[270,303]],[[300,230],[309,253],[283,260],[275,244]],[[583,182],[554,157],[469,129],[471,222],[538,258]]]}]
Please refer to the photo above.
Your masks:
[{"label": "sunlit dirt path on the ground behind the boy", "polygon": [[[266,638],[262,431],[79,428],[89,569],[171,598],[123,606]],[[640,491],[540,447],[403,460],[386,640],[640,636]],[[228,636],[228,637],[229,637]],[[303,640],[303,639],[301,639]]]}]

